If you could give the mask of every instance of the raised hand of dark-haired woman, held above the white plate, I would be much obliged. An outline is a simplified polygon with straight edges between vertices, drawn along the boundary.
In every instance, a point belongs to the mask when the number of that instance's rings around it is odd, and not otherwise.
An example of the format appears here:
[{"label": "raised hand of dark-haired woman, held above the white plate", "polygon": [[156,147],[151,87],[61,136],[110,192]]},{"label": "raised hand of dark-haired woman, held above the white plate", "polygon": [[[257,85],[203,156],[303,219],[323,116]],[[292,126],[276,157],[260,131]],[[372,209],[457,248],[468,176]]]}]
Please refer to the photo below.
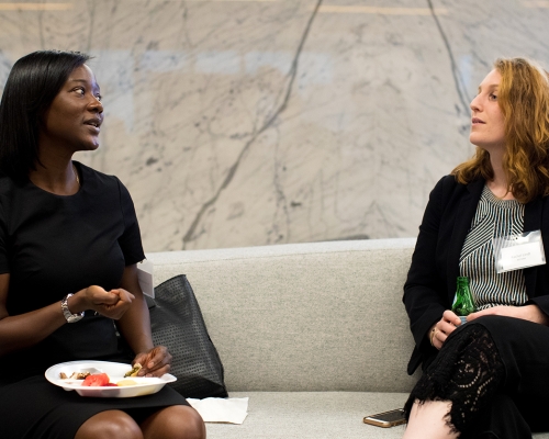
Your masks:
[{"label": "raised hand of dark-haired woman, held above the white plate", "polygon": [[[135,296],[123,289],[105,291],[101,286],[91,285],[80,290],[69,299],[69,309],[71,313],[92,309],[99,314],[117,320],[132,305]],[[72,305],[74,300],[74,305]]]}]

